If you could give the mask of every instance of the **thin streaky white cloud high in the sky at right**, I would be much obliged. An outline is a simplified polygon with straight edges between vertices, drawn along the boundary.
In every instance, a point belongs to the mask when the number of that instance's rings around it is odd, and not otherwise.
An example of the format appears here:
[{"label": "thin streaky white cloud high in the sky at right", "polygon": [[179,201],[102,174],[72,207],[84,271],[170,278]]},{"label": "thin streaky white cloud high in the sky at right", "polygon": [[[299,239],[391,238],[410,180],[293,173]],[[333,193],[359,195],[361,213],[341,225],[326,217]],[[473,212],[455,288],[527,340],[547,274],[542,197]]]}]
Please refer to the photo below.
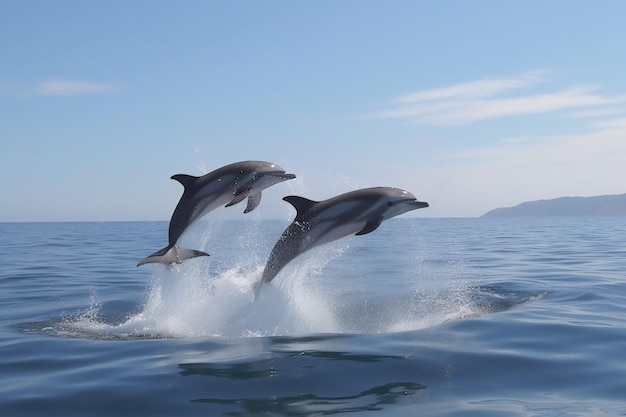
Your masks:
[{"label": "thin streaky white cloud high in the sky at right", "polygon": [[[598,93],[597,87],[584,85],[554,92],[511,96],[516,90],[547,81],[548,74],[548,71],[534,71],[513,78],[485,79],[418,91],[397,97],[392,101],[390,109],[369,117],[404,119],[431,125],[458,125],[504,116],[597,109],[626,102],[626,95],[602,95]],[[508,96],[502,97],[504,93],[508,93]]]}]

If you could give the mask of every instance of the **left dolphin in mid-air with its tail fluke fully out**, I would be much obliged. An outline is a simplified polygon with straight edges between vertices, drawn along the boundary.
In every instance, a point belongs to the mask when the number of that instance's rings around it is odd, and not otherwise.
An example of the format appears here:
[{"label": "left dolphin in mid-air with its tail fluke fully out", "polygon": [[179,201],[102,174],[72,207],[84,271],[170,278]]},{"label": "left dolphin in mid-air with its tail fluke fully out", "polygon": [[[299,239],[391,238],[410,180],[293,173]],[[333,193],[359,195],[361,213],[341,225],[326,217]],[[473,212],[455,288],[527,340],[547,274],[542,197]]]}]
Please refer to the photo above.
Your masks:
[{"label": "left dolphin in mid-air with its tail fluke fully out", "polygon": [[176,246],[189,225],[223,204],[230,207],[246,197],[248,205],[244,213],[249,213],[259,205],[264,189],[295,177],[278,165],[263,161],[236,162],[201,177],[186,174],[172,176],[185,190],[170,220],[169,243],[137,266],[147,263],[179,264],[186,259],[209,256],[205,252]]}]

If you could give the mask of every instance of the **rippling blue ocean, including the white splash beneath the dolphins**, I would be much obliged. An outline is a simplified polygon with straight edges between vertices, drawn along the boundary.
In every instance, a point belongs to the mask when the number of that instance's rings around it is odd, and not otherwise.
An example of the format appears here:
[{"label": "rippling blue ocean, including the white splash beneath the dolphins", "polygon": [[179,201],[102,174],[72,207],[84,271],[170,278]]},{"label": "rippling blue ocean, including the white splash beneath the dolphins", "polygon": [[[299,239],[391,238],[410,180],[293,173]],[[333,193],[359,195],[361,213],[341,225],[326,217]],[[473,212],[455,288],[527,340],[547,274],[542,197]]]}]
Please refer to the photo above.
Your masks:
[{"label": "rippling blue ocean, including the white splash beneath the dolphins", "polygon": [[0,415],[626,415],[626,218],[287,223],[0,224]]}]

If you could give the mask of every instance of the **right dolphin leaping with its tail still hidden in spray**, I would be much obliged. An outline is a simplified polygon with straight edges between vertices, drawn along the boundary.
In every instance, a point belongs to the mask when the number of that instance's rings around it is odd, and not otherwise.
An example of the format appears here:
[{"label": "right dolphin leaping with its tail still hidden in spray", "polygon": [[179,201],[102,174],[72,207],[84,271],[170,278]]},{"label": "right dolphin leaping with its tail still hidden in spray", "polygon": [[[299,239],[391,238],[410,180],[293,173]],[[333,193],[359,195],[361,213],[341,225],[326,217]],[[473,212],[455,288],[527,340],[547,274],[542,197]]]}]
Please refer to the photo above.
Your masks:
[{"label": "right dolphin leaping with its tail still hidden in spray", "polygon": [[371,233],[383,220],[428,207],[413,194],[392,187],[364,188],[324,201],[298,196],[283,200],[295,207],[296,218],[274,245],[261,283],[270,282],[291,260],[311,248],[351,234]]}]

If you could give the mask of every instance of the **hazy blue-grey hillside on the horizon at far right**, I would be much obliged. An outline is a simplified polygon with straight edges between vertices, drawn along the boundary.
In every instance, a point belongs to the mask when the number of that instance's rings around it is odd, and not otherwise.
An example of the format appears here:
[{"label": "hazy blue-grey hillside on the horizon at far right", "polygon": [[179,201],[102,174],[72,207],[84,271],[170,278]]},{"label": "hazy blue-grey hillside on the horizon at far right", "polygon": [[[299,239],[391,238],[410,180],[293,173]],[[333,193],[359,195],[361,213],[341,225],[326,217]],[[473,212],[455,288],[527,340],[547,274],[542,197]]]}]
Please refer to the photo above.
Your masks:
[{"label": "hazy blue-grey hillside on the horizon at far right", "polygon": [[497,208],[481,217],[626,216],[626,194],[561,197]]}]

